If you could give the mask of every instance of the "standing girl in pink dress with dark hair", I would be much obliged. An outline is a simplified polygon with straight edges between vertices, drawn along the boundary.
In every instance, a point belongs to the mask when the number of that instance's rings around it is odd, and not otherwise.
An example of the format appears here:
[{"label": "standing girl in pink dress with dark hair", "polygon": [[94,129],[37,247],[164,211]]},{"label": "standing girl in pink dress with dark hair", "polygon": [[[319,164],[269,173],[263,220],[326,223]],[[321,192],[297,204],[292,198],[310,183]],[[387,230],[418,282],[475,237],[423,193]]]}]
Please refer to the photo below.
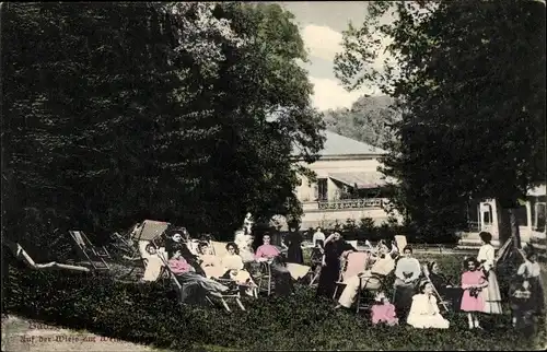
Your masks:
[{"label": "standing girl in pink dress with dark hair", "polygon": [[481,329],[477,313],[484,312],[485,301],[480,295],[480,291],[488,286],[482,270],[478,269],[478,262],[474,258],[469,258],[464,262],[467,270],[462,274],[462,289],[464,294],[462,296],[461,309],[467,312],[467,319],[469,321],[469,329]]}]

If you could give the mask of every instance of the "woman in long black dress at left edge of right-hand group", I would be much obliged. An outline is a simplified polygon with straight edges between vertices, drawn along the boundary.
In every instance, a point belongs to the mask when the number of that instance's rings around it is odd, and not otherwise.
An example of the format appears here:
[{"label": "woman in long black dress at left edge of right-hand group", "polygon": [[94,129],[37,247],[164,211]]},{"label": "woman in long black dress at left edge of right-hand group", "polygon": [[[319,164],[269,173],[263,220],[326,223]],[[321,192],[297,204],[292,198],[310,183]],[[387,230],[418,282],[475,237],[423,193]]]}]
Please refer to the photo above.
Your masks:
[{"label": "woman in long black dress at left edge of right-hand group", "polygon": [[317,285],[317,296],[333,297],[336,281],[340,275],[340,256],[347,250],[356,251],[357,249],[344,240],[339,233],[335,232],[325,239],[325,255]]}]

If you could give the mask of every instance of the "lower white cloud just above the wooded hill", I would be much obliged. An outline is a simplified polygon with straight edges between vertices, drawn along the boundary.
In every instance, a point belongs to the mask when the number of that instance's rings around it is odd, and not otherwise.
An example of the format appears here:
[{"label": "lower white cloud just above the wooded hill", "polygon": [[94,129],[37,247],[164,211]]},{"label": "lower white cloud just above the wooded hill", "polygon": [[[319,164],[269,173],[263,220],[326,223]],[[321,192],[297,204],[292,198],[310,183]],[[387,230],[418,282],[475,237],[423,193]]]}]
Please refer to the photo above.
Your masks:
[{"label": "lower white cloud just above the wooded hill", "polygon": [[350,108],[361,95],[366,93],[374,95],[376,93],[366,89],[347,92],[337,80],[331,79],[317,79],[311,77],[310,82],[314,85],[312,104],[322,112],[329,108]]}]

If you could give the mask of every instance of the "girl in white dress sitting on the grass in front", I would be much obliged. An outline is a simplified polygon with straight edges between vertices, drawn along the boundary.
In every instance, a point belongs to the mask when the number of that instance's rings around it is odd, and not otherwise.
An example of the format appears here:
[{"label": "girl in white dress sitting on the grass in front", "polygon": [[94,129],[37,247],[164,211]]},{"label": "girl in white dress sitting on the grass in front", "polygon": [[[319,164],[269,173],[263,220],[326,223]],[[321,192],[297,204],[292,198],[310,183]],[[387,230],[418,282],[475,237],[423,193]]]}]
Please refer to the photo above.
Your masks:
[{"label": "girl in white dress sitting on the grass in front", "polygon": [[439,310],[433,285],[426,281],[420,285],[420,293],[412,296],[412,305],[407,324],[418,329],[447,329],[450,321]]}]

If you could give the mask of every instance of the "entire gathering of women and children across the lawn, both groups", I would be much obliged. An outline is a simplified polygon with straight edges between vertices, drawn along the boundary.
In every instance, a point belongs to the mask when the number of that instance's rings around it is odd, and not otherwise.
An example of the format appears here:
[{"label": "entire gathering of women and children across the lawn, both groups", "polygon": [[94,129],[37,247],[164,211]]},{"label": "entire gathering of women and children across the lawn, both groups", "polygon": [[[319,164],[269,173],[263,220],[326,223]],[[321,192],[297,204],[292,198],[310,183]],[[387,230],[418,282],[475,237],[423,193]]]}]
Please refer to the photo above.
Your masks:
[{"label": "entire gathering of women and children across the lawn, both groups", "polygon": [[[361,258],[359,270],[344,278],[344,289],[337,297],[336,307],[350,308],[359,294],[365,291],[375,293],[375,304],[371,308],[374,324],[394,325],[404,320],[415,328],[446,329],[450,322],[442,316],[439,305],[446,307],[449,303],[453,309],[467,314],[469,329],[481,329],[479,314],[501,313],[499,288],[491,265],[493,250],[488,238],[477,258],[465,259],[464,272],[456,285],[440,273],[438,263],[430,261],[421,266],[414,257],[410,246],[406,246],[400,253],[393,242],[389,247],[385,240],[381,240],[374,247],[368,243],[366,250],[359,253],[339,233],[333,233],[326,238],[316,233],[314,237],[317,238],[312,251],[312,269],[315,267],[321,272],[317,296],[335,297],[340,272],[344,271],[341,260]],[[183,302],[189,301],[190,296],[202,296],[203,294],[196,294],[199,290],[212,295],[223,294],[230,289],[222,279],[231,280],[243,292],[257,296],[255,275],[265,271],[271,274],[277,294],[293,294],[291,273],[280,250],[271,244],[269,234],[263,236],[263,245],[254,254],[245,256],[246,260],[240,255],[235,243],[226,244],[225,249],[226,253],[219,257],[208,240],[191,239],[184,228],[175,231],[167,239],[166,263],[183,285]],[[161,260],[153,244],[147,246],[147,251],[149,261]],[[154,256],[156,259],[153,259]],[[543,310],[543,289],[536,258],[534,253],[528,254],[516,272],[515,284],[512,285],[514,325],[526,321],[529,312]],[[348,265],[349,261],[346,268]],[[383,285],[392,272],[395,275],[393,303],[386,296],[386,288]],[[154,274],[158,273],[151,275]]]}]

